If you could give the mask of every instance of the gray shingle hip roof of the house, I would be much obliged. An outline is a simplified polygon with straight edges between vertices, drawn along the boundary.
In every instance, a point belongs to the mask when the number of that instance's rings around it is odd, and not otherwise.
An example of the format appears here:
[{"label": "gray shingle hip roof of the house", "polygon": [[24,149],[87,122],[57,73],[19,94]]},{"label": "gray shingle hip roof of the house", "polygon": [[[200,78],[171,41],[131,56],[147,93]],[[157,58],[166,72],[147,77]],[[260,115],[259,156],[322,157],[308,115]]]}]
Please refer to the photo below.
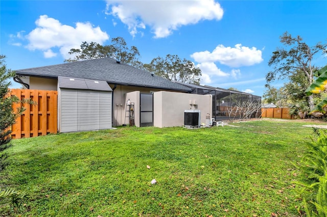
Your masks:
[{"label": "gray shingle hip roof of the house", "polygon": [[58,78],[75,77],[105,80],[109,84],[128,85],[190,92],[191,89],[135,67],[116,63],[111,58],[85,60],[52,66],[15,70],[17,75]]}]

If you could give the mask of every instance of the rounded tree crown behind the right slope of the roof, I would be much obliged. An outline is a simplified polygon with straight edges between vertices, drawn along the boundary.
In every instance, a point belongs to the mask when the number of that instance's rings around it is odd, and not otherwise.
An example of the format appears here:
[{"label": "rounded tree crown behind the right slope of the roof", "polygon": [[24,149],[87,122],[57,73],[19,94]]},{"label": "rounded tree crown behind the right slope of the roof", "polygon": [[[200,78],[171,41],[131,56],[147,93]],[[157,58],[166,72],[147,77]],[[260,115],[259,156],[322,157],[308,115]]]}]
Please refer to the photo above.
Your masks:
[{"label": "rounded tree crown behind the right slope of the roof", "polygon": [[144,64],[144,67],[147,71],[168,80],[200,84],[201,69],[190,60],[182,60],[177,55],[167,55],[165,59],[154,58],[150,64]]}]

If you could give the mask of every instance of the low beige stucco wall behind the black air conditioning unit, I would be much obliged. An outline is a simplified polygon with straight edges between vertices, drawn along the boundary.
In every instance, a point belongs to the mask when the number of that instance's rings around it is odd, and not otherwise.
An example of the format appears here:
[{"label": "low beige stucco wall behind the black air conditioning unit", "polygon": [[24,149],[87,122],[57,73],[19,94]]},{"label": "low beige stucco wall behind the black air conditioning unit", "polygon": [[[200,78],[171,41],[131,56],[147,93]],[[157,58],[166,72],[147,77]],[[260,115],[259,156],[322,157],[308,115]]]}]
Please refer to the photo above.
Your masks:
[{"label": "low beige stucco wall behind the black air conditioning unit", "polygon": [[[182,126],[184,110],[200,110],[201,123],[212,114],[212,95],[197,95],[160,91],[154,94],[154,123],[156,127]],[[192,104],[196,105],[190,105]]]}]

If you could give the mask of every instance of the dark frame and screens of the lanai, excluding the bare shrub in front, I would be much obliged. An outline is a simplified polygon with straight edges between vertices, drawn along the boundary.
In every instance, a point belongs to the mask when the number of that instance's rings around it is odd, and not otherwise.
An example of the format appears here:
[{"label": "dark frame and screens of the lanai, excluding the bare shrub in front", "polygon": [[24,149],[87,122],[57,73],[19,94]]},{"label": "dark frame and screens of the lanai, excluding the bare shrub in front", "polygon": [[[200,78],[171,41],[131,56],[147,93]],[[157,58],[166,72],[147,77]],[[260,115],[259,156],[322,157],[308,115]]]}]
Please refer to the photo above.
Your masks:
[{"label": "dark frame and screens of the lanai, excluding the bare shrub in front", "polygon": [[[232,106],[245,101],[261,103],[261,96],[252,95],[235,90],[227,90],[223,88],[214,88],[209,86],[200,86],[193,84],[183,84],[192,89],[192,94],[212,95],[213,99],[213,114],[212,117],[216,121],[229,120],[228,109],[230,111]],[[261,111],[253,114],[252,118],[261,117]],[[232,114],[233,119],[240,118],[239,114]]]}]

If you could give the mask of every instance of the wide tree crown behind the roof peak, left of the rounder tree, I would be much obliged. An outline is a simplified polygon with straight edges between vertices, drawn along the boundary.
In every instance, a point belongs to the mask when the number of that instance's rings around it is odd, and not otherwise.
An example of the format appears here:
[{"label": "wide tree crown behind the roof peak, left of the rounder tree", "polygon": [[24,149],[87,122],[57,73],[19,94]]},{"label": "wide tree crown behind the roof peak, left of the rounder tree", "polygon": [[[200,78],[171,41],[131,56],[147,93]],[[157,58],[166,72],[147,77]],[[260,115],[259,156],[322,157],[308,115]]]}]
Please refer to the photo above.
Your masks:
[{"label": "wide tree crown behind the roof peak, left of the rounder tree", "polygon": [[130,48],[122,37],[112,38],[111,45],[100,45],[97,42],[82,42],[80,49],[71,49],[68,53],[74,55],[74,59],[65,62],[76,62],[81,60],[92,60],[110,57],[121,63],[139,67],[143,65],[138,61],[139,51],[135,46]]}]

